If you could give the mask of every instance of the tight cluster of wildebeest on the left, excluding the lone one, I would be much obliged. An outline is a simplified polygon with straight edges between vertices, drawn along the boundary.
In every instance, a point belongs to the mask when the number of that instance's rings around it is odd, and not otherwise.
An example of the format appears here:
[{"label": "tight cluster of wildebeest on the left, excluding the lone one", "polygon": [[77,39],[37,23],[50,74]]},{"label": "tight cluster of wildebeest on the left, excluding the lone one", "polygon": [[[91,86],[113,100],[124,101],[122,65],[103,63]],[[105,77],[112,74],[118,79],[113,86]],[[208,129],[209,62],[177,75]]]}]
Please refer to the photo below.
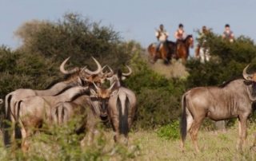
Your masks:
[{"label": "tight cluster of wildebeest on the left, excluding the lone one", "polygon": [[[65,81],[54,84],[46,90],[19,88],[5,98],[4,117],[13,128],[3,130],[4,143],[10,145],[21,135],[22,151],[27,151],[27,137],[33,135],[42,124],[62,125],[80,116],[75,132],[85,132],[81,144],[90,144],[97,132],[96,125],[110,120],[114,130],[114,140],[124,135],[127,143],[128,132],[136,112],[136,96],[122,86],[122,79],[130,76],[132,69],[126,65],[128,73],[113,71],[94,59],[97,68],[65,69],[68,57],[60,65],[60,71],[67,76]],[[108,87],[102,84],[109,81]],[[104,84],[106,85],[106,84]],[[2,100],[1,100],[2,101]],[[2,103],[2,102],[0,102]],[[4,128],[9,128],[5,124]]]}]

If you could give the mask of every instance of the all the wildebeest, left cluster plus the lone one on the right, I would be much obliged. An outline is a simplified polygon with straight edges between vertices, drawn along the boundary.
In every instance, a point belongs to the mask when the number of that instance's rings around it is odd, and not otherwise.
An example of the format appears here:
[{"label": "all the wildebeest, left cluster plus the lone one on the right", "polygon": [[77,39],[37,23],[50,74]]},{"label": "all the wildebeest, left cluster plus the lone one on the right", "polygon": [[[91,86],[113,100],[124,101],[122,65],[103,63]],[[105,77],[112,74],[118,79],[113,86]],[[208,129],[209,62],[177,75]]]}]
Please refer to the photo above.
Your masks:
[{"label": "all the wildebeest, left cluster plus the lone one on the right", "polygon": [[[5,98],[4,119],[10,120],[13,132],[4,130],[4,142],[9,145],[22,136],[22,150],[27,151],[27,137],[34,134],[42,124],[61,126],[77,116],[82,116],[76,124],[75,132],[85,132],[81,144],[90,144],[97,132],[96,125],[110,120],[114,130],[114,140],[120,141],[120,135],[128,141],[128,132],[134,120],[136,96],[129,88],[122,86],[122,80],[128,73],[113,71],[108,65],[102,65],[94,59],[97,69],[91,71],[86,67],[65,69],[67,58],[60,65],[60,71],[68,76],[65,81],[54,84],[46,90],[19,88],[10,92]],[[243,69],[243,79],[229,81],[220,87],[192,88],[182,96],[181,147],[184,150],[186,133],[189,132],[196,151],[198,130],[202,121],[226,120],[238,118],[238,144],[241,150],[246,140],[246,121],[252,112],[256,100],[256,73],[248,74]],[[106,87],[104,82],[109,82]],[[0,104],[3,100],[0,99]],[[5,124],[4,128],[8,128]],[[18,132],[17,132],[18,131]],[[12,139],[11,139],[12,137]]]}]

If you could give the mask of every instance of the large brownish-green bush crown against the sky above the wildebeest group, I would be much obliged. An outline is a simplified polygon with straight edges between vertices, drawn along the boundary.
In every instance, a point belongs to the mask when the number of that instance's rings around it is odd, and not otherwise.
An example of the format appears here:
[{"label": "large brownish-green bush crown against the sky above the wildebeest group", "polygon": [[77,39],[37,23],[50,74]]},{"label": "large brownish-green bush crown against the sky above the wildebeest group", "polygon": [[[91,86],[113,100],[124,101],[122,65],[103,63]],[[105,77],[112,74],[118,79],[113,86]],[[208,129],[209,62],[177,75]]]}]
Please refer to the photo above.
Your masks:
[{"label": "large brownish-green bush crown against the sky above the wildebeest group", "polygon": [[58,62],[72,56],[75,65],[93,66],[93,56],[103,65],[117,67],[130,58],[118,32],[79,14],[65,14],[58,22],[26,22],[16,35],[23,40],[22,50]]}]

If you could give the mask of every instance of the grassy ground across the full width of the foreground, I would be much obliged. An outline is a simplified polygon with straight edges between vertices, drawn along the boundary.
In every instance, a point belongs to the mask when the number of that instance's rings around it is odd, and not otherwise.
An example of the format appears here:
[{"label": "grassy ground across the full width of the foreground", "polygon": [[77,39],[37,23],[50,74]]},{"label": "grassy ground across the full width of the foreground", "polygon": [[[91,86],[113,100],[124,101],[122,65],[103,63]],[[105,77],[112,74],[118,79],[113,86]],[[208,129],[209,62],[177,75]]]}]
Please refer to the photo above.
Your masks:
[{"label": "grassy ground across the full width of the foreground", "polygon": [[[122,147],[114,144],[113,134],[111,130],[103,132],[101,136],[104,141],[94,147],[85,147],[85,151],[78,151],[75,154],[74,149],[79,149],[78,145],[70,144],[67,150],[56,146],[58,143],[38,142],[38,139],[32,139],[29,155],[11,159],[26,160],[255,160],[256,153],[250,150],[250,146],[254,141],[255,126],[250,126],[246,146],[243,152],[236,151],[236,143],[238,139],[238,129],[229,128],[227,132],[206,132],[201,130],[198,133],[198,144],[201,152],[194,151],[190,136],[186,139],[186,151],[182,152],[179,147],[179,139],[164,139],[158,136],[158,129],[138,132],[130,132],[130,141],[128,147]],[[43,135],[43,134],[39,134]],[[38,137],[35,135],[34,138]],[[53,136],[50,136],[53,138]],[[48,143],[48,144],[47,144]],[[72,147],[74,146],[74,147]],[[71,150],[70,150],[70,149]],[[88,150],[92,150],[88,153]],[[64,153],[63,153],[64,151]],[[70,158],[62,155],[74,153]],[[81,155],[81,154],[83,155]],[[10,151],[6,151],[4,147],[0,147],[0,160],[10,160]],[[20,154],[16,151],[16,154]],[[70,154],[69,154],[70,155]],[[78,158],[75,158],[78,156]],[[24,158],[23,158],[24,157]]]}]

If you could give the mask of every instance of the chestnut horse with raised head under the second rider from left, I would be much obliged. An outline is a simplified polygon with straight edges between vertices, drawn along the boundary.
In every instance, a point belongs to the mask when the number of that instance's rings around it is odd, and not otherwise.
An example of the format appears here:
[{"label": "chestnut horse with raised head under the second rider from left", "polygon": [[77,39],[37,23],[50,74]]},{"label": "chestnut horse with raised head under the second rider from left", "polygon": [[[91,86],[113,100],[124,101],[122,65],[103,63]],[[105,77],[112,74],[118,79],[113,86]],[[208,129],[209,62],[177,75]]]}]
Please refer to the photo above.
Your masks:
[{"label": "chestnut horse with raised head under the second rider from left", "polygon": [[186,63],[187,57],[190,55],[190,48],[194,47],[194,39],[192,35],[188,35],[184,40],[176,42],[175,58],[182,59],[182,63]]}]

